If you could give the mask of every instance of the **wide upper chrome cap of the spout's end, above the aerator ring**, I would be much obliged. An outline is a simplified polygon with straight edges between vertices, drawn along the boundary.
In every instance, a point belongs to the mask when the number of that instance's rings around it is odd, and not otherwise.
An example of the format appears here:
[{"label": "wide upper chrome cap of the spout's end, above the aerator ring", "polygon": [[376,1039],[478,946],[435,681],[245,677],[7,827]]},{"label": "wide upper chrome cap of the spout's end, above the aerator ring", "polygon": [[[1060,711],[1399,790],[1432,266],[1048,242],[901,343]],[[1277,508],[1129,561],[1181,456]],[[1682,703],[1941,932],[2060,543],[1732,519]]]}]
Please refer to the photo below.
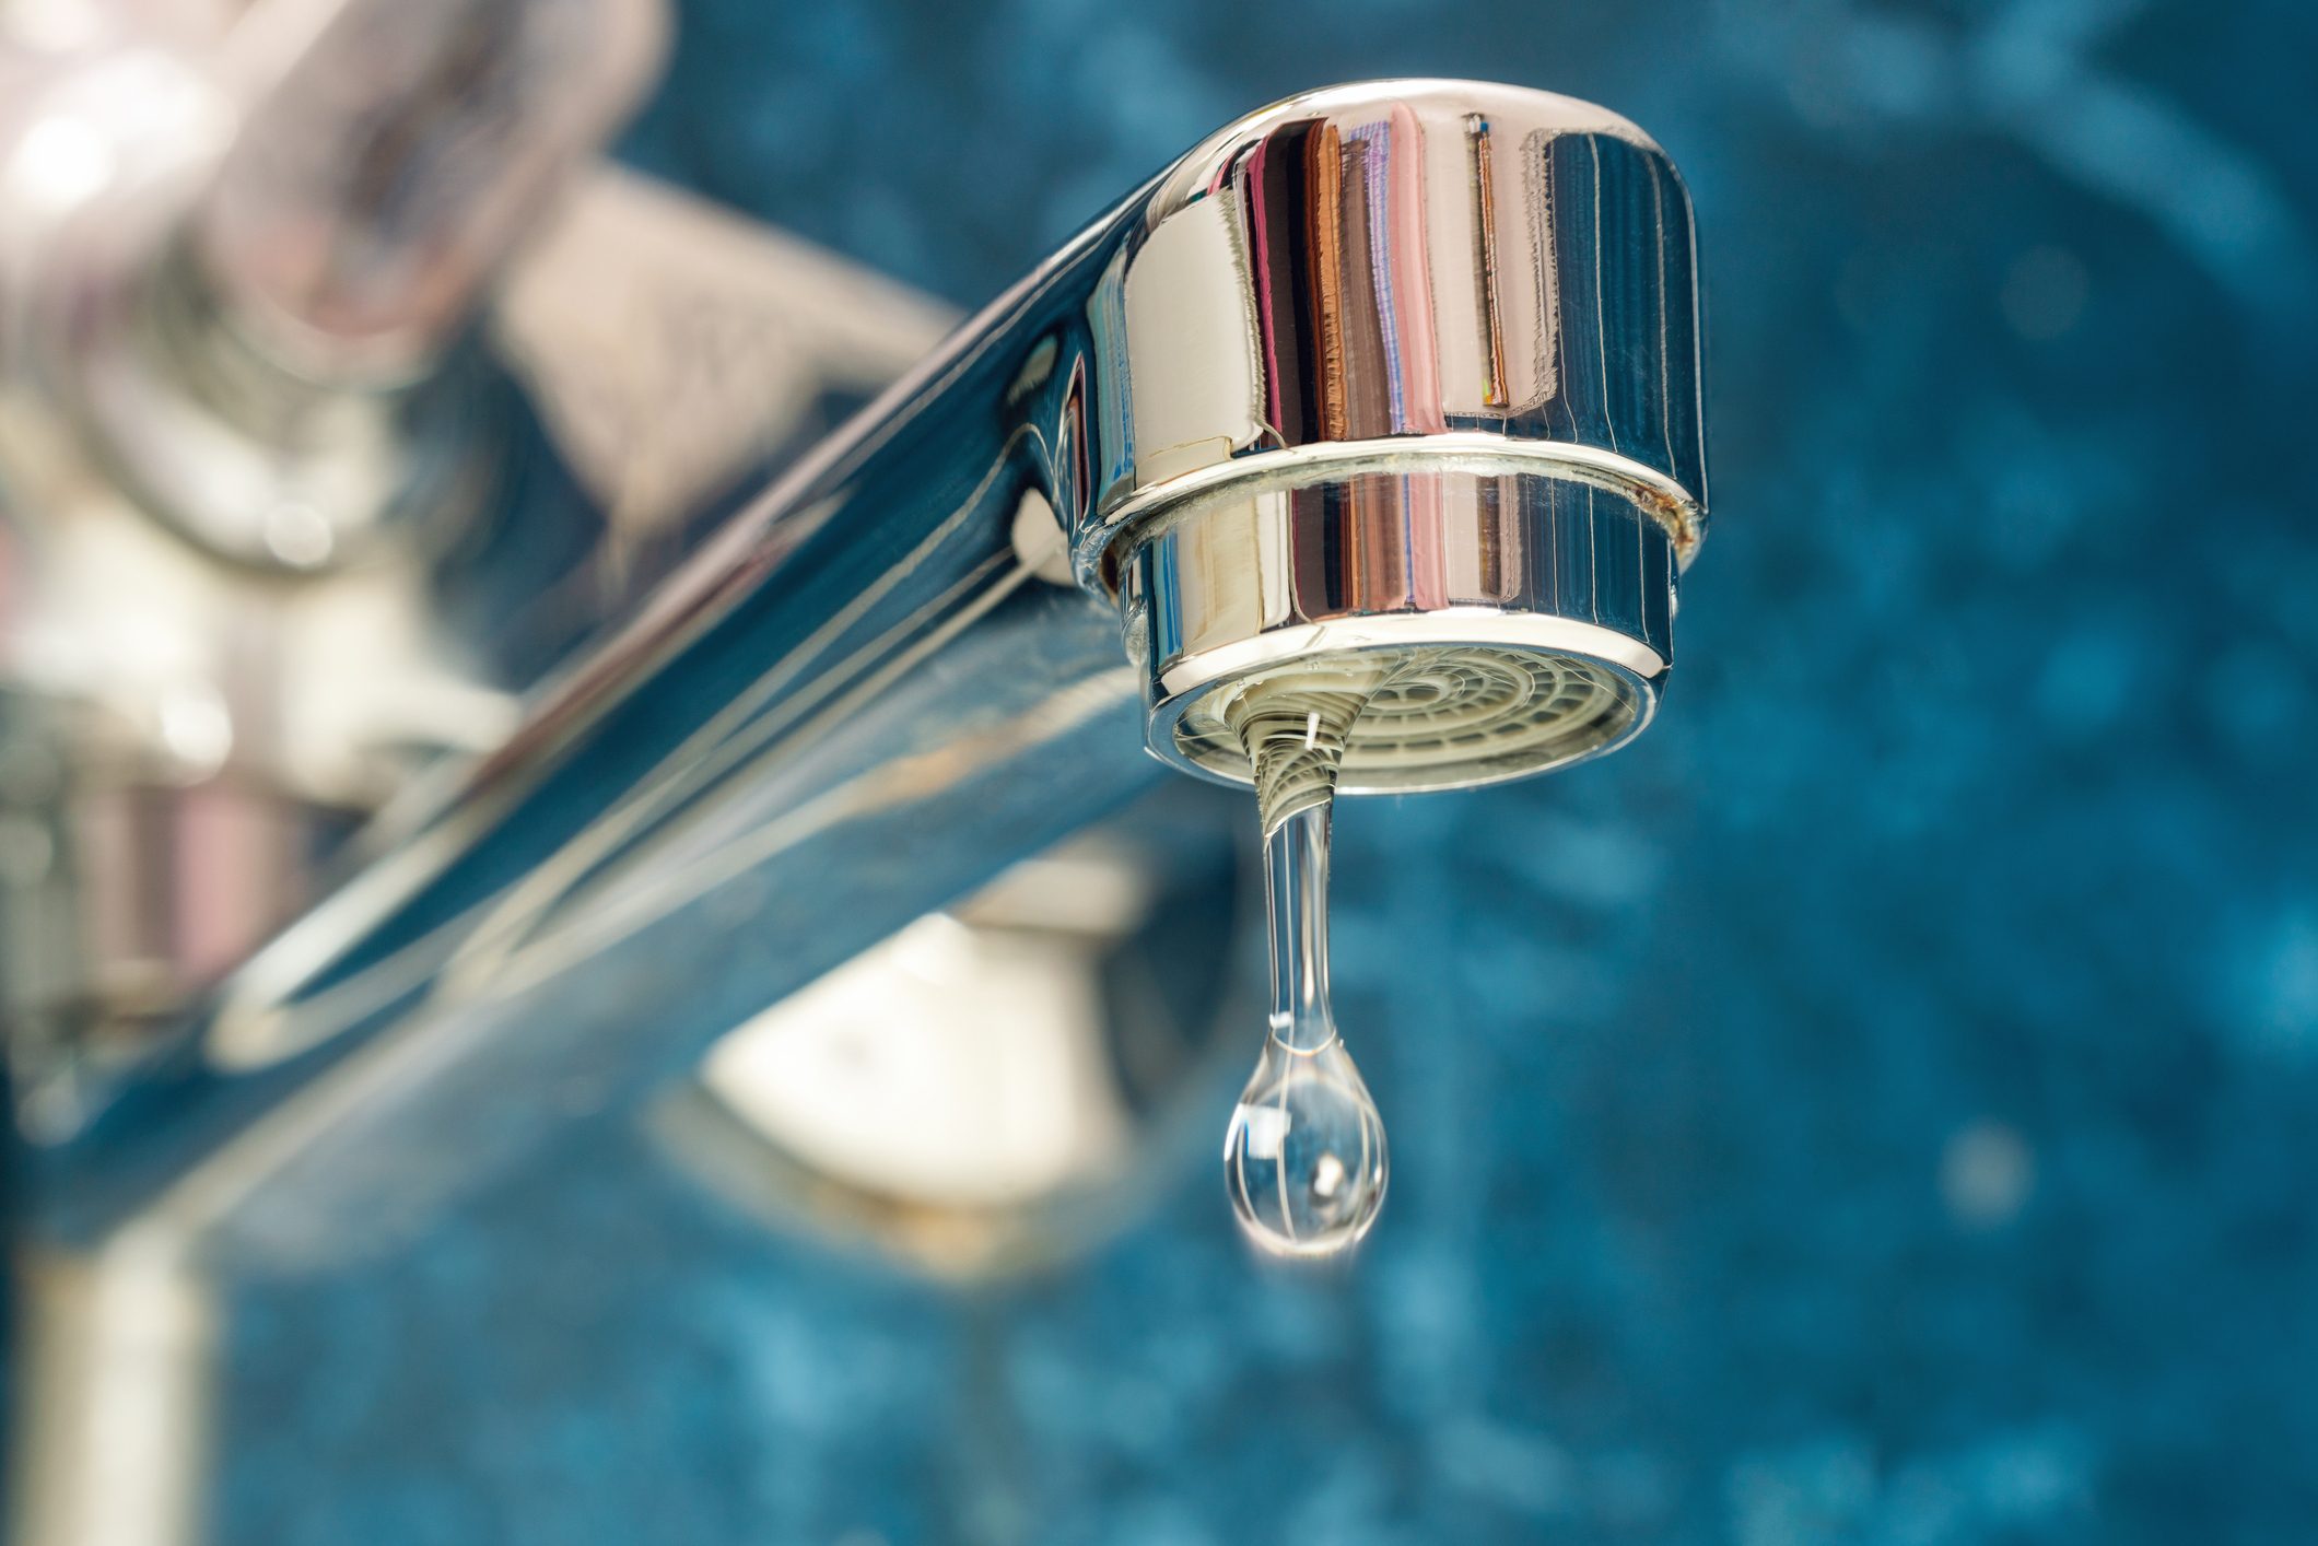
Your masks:
[{"label": "wide upper chrome cap of the spout's end, above the aerator ring", "polygon": [[1625,118],[1472,81],[1310,93],[1131,225],[1092,299],[1117,401],[1083,563],[1217,477],[1428,454],[1592,475],[1697,547],[1690,195]]}]

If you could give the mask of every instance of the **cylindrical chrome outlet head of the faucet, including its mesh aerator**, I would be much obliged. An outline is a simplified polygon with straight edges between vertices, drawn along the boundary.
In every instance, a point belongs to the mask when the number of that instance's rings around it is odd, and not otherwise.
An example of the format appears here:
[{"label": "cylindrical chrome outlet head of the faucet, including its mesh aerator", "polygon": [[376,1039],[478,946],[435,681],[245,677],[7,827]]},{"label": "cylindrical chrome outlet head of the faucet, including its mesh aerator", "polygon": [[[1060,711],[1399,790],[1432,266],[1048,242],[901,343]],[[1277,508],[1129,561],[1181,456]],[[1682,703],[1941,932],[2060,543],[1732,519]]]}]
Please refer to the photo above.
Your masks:
[{"label": "cylindrical chrome outlet head of the faucet, including its mesh aerator", "polygon": [[1690,197],[1632,123],[1463,81],[1293,97],[1161,174],[1089,318],[1073,559],[1161,760],[1249,781],[1231,705],[1351,651],[1400,665],[1351,793],[1650,721],[1706,477]]}]

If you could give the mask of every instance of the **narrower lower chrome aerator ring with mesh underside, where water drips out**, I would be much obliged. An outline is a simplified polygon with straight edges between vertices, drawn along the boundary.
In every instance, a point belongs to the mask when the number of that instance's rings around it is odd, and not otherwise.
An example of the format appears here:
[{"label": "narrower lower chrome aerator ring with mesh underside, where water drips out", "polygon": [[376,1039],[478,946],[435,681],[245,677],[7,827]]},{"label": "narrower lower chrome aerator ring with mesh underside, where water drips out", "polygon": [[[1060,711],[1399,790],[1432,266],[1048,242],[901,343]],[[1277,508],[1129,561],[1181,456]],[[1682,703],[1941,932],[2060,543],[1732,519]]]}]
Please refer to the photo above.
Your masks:
[{"label": "narrower lower chrome aerator ring with mesh underside, where water drips out", "polygon": [[1433,691],[1351,725],[1344,793],[1516,779],[1648,723],[1674,658],[1674,549],[1620,494],[1446,459],[1242,489],[1131,538],[1120,596],[1164,760],[1249,779],[1229,702],[1344,651],[1433,658]]}]

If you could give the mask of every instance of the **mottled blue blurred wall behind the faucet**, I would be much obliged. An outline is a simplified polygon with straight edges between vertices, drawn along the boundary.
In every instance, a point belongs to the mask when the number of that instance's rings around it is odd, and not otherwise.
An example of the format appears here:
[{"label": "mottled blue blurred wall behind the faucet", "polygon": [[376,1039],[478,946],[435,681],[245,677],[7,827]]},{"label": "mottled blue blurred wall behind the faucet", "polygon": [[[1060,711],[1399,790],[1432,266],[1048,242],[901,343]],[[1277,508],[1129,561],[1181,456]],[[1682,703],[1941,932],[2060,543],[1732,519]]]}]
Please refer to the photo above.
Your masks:
[{"label": "mottled blue blurred wall behind the faucet", "polygon": [[960,1298],[577,1126],[241,1298],[220,1539],[2318,1539],[2318,9],[691,0],[624,155],[974,304],[1377,74],[1674,153],[1715,531],[1634,749],[1337,825],[1358,1268],[1201,1150]]}]

